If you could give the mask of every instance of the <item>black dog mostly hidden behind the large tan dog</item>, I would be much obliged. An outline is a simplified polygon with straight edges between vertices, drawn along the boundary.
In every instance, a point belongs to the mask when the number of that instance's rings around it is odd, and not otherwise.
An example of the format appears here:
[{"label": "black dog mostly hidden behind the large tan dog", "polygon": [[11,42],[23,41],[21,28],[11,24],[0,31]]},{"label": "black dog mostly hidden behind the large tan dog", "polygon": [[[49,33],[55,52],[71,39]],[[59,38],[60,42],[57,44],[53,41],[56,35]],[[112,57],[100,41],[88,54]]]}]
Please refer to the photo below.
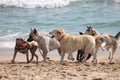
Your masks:
[{"label": "black dog mostly hidden behind the large tan dog", "polygon": [[[82,32],[79,32],[80,35],[83,35]],[[91,54],[88,54],[87,60],[90,59]],[[82,62],[84,59],[84,50],[78,50],[77,52],[77,61]]]}]

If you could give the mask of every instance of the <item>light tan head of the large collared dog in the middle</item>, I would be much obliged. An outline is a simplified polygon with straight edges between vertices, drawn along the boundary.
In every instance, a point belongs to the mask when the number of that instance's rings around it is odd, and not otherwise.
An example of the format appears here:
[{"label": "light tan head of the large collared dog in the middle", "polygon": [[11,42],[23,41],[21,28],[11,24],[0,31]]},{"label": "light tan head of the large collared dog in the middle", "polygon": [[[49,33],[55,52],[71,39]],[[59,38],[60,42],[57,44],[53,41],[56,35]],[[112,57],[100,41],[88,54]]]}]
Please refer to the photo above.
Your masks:
[{"label": "light tan head of the large collared dog in the middle", "polygon": [[55,29],[52,32],[49,32],[49,34],[52,35],[52,38],[56,38],[57,40],[60,40],[60,38],[65,34],[65,31],[60,28],[60,29]]}]

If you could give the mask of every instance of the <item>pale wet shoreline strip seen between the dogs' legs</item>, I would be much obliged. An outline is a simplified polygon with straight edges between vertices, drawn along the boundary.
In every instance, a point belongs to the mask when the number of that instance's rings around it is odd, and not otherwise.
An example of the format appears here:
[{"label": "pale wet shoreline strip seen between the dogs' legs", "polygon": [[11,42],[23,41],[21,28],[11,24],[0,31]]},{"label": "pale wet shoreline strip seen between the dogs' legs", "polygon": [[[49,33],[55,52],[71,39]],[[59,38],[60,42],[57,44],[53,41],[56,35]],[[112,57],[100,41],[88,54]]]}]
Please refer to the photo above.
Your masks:
[{"label": "pale wet shoreline strip seen between the dogs' legs", "polygon": [[[9,60],[12,59],[13,54],[14,54],[14,49],[13,49],[13,48],[10,48],[10,49],[9,49],[9,48],[0,49],[0,61],[4,61],[4,60],[6,60],[6,59],[8,59],[8,58],[9,58]],[[42,56],[41,56],[41,54],[40,54],[40,52],[39,52],[39,50],[36,51],[36,54],[39,56],[39,60],[42,60],[42,59],[43,59]],[[67,55],[68,55],[68,54],[65,54],[65,60],[67,60]],[[97,55],[98,55],[98,57],[99,57],[99,56],[108,57],[109,52],[106,51],[106,50],[105,50],[105,51],[102,51],[101,49],[99,49]],[[50,52],[47,54],[47,56],[50,57],[51,60],[52,60],[52,59],[53,59],[53,60],[56,60],[56,57],[60,59],[60,56],[59,56],[57,50],[50,51]],[[76,59],[77,51],[73,53],[73,56],[74,56],[74,58]],[[114,56],[120,56],[120,46],[117,48]],[[7,58],[2,58],[2,57],[7,57]],[[26,55],[25,55],[25,54],[21,54],[21,53],[19,53],[19,52],[18,52],[17,55],[16,55],[16,59],[17,59],[17,57],[18,57],[18,59],[23,57],[23,58],[22,58],[23,61],[26,59]],[[30,53],[30,52],[29,52],[29,58],[31,58],[31,53]],[[54,58],[55,58],[55,59],[54,59]],[[57,59],[57,60],[59,61],[59,59]]]}]

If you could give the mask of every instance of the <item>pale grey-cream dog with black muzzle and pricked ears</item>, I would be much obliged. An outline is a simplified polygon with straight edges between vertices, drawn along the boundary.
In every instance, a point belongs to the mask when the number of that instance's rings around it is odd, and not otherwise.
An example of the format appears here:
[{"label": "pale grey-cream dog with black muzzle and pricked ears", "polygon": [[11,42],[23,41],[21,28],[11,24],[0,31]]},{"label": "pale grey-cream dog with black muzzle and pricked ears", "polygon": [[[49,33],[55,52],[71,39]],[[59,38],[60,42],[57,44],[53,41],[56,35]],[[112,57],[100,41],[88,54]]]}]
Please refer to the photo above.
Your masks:
[{"label": "pale grey-cream dog with black muzzle and pricked ears", "polygon": [[39,49],[43,52],[43,61],[46,62],[47,59],[47,53],[49,51],[58,49],[58,53],[61,56],[61,45],[60,43],[55,39],[51,38],[46,35],[42,35],[40,32],[38,32],[36,29],[31,29],[31,32],[29,34],[29,38],[27,41],[35,40],[38,42]]}]

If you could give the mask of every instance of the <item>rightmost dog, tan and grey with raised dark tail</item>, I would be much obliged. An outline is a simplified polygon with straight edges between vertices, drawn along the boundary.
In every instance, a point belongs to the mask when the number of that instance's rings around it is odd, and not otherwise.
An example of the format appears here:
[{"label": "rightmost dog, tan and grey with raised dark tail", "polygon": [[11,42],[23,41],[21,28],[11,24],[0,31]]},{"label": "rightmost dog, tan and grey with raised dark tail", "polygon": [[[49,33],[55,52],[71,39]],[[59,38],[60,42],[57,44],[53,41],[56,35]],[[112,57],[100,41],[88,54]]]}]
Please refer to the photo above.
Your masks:
[{"label": "rightmost dog, tan and grey with raised dark tail", "polygon": [[[105,43],[106,45],[104,46],[106,48],[106,50],[109,52],[109,63],[112,62],[113,60],[113,55],[117,49],[117,41],[120,37],[120,32],[118,32],[115,36],[111,36],[108,34],[100,34],[99,32],[97,32],[95,29],[93,29],[91,26],[87,27],[87,30],[85,31],[85,34],[88,35],[92,35],[92,36],[97,36],[100,37]],[[100,45],[98,45],[100,46]],[[110,49],[112,50],[112,53],[110,52]]]}]

